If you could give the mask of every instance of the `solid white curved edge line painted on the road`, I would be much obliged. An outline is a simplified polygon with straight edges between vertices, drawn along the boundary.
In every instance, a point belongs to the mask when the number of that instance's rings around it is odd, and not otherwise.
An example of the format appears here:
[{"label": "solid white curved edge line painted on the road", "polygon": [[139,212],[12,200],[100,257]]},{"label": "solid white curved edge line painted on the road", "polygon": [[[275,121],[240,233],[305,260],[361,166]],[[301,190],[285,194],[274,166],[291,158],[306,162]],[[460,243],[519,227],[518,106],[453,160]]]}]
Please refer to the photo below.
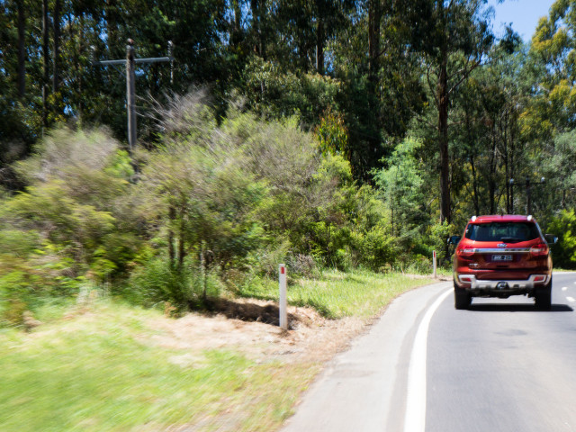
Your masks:
[{"label": "solid white curved edge line painted on the road", "polygon": [[424,432],[426,428],[426,356],[428,327],[440,303],[444,302],[446,297],[453,292],[454,290],[450,289],[437,298],[437,301],[434,302],[424,314],[424,318],[420,321],[419,328],[416,331],[408,370],[408,392],[404,417],[404,432]]}]

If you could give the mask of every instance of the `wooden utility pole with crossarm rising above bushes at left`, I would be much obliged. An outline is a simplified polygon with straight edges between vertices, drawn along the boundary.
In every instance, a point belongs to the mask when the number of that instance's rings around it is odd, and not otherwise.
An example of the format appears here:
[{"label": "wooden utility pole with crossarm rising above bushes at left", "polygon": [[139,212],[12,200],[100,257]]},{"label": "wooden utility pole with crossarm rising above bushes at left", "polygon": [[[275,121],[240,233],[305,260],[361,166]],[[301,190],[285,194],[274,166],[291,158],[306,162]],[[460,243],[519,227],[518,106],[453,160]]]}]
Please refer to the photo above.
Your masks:
[{"label": "wooden utility pole with crossarm rising above bushes at left", "polygon": [[134,57],[134,40],[129,39],[126,45],[126,59],[122,60],[103,60],[92,62],[93,66],[126,66],[126,112],[128,117],[128,147],[130,154],[136,146],[137,133],[136,133],[136,75],[135,69],[138,63],[167,63],[170,62],[170,84],[174,79],[172,50],[174,44],[172,40],[168,40],[168,57],[153,57],[153,58],[135,58]]}]

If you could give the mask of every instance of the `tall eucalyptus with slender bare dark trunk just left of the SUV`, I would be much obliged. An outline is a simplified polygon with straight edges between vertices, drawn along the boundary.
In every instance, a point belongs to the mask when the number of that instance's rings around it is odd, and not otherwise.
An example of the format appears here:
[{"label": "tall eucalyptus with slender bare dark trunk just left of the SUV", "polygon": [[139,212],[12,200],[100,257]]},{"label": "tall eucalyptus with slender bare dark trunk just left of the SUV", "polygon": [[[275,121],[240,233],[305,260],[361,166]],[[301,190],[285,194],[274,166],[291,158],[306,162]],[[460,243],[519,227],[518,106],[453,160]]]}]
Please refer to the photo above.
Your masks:
[{"label": "tall eucalyptus with slender bare dark trunk just left of the SUV", "polygon": [[493,36],[485,0],[406,2],[411,48],[419,52],[432,104],[437,110],[440,219],[451,220],[448,116],[451,99],[471,72],[482,65]]}]

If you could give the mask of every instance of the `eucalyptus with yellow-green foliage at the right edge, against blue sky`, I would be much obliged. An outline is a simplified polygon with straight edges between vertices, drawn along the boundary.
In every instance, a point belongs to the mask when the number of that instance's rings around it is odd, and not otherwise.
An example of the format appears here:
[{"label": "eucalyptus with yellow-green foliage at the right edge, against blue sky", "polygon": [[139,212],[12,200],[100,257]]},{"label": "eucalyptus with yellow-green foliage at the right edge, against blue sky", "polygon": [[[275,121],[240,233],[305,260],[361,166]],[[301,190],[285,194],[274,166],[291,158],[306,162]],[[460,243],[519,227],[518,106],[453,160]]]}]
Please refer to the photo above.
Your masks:
[{"label": "eucalyptus with yellow-green foliage at the right edge, against blue sky", "polygon": [[526,67],[531,98],[521,127],[536,169],[546,176],[538,202],[551,214],[576,204],[572,139],[576,130],[576,5],[557,0],[540,19]]}]

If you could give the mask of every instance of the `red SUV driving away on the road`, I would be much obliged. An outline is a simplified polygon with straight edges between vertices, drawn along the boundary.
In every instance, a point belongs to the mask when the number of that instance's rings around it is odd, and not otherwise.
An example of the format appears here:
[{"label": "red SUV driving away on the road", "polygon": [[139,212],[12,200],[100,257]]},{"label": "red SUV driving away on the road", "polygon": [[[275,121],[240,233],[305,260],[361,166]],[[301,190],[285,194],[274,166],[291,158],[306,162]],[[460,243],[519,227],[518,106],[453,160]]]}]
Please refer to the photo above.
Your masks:
[{"label": "red SUV driving away on the road", "polygon": [[451,237],[454,254],[455,308],[468,309],[473,297],[534,297],[549,310],[552,257],[548,242],[532,216],[474,216],[464,237]]}]

